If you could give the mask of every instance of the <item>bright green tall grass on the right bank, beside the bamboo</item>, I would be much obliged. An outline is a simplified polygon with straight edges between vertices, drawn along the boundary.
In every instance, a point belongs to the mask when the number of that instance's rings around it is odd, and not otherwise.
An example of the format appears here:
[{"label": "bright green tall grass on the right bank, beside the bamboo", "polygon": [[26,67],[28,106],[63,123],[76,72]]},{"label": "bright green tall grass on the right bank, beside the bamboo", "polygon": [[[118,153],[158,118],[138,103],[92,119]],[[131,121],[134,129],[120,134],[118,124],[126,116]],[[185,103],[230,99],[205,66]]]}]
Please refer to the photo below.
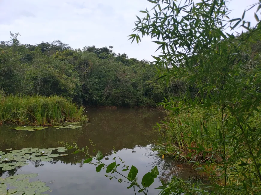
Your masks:
[{"label": "bright green tall grass on the right bank, beside the bamboo", "polygon": [[[218,138],[218,129],[220,122],[215,118],[205,118],[201,114],[180,113],[177,116],[168,116],[166,121],[161,124],[157,123],[159,128],[159,140],[154,149],[160,154],[184,157],[194,160],[202,159],[200,154],[189,156],[193,149],[199,148],[199,145],[205,149],[211,150],[208,142],[204,142],[203,136]],[[208,134],[206,134],[207,128]],[[195,151],[196,153],[196,151]],[[197,158],[197,159],[196,159]]]}]

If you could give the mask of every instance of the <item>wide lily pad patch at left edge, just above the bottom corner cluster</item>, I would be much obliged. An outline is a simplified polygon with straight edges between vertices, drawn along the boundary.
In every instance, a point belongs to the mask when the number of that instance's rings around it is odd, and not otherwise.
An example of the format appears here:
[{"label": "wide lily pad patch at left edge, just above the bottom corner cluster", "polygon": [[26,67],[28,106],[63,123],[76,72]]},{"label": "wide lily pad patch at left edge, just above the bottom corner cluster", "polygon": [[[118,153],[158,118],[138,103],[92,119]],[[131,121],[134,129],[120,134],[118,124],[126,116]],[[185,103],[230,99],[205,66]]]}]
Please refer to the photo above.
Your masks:
[{"label": "wide lily pad patch at left edge, just above the bottom corner cluster", "polygon": [[66,152],[65,147],[58,148],[23,148],[21,150],[12,150],[9,153],[0,151],[0,168],[2,171],[9,171],[16,167],[29,165],[29,160],[43,162],[52,161],[52,158],[58,156],[67,156],[67,154],[55,154],[52,151]]}]

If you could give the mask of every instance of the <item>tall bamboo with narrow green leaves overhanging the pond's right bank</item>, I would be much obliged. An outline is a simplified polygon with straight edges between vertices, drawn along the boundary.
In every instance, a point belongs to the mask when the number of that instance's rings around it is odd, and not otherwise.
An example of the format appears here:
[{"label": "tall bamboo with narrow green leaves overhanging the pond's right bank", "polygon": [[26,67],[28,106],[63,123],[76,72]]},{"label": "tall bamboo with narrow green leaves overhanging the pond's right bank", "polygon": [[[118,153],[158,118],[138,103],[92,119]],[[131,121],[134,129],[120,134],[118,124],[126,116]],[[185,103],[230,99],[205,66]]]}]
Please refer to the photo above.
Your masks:
[{"label": "tall bamboo with narrow green leaves overhanging the pond's right bank", "polygon": [[[197,192],[187,189],[187,185],[164,186],[162,194],[259,194],[261,129],[256,118],[261,102],[257,49],[261,22],[257,14],[261,2],[245,10],[242,17],[229,19],[224,0],[188,0],[179,5],[169,0],[149,1],[155,5],[154,13],[141,11],[146,16],[138,17],[134,29],[138,34],[130,35],[130,39],[139,42],[140,35],[157,39],[162,55],[154,57],[155,64],[166,68],[165,73],[159,72],[159,79],[168,84],[170,79],[182,78],[195,84],[198,91],[193,97],[187,87],[185,96],[166,99],[161,105],[175,114],[189,112],[202,114],[204,120],[215,118],[219,124],[216,137],[212,128],[205,126],[208,124],[201,123],[205,133],[199,138],[206,148],[198,143],[187,148],[192,150],[188,156],[206,157],[211,153],[208,164],[200,167],[210,175],[210,184],[202,185]],[[244,16],[253,7],[257,7],[253,13],[257,24],[250,28]],[[238,25],[247,31],[234,35]],[[190,137],[193,142],[198,139]],[[221,162],[216,163],[214,156],[219,156]]]}]

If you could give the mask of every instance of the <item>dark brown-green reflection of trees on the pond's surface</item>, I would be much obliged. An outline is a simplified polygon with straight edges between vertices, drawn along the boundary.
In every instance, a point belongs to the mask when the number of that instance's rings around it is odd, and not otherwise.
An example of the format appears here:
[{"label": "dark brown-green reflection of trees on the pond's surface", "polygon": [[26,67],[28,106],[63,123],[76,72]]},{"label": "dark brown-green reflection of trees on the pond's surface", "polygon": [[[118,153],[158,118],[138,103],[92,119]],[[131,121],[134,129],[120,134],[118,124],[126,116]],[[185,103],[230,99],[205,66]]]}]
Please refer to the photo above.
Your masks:
[{"label": "dark brown-green reflection of trees on the pond's surface", "polygon": [[[39,131],[16,131],[8,129],[7,125],[0,125],[0,150],[7,148],[56,148],[59,141],[68,142],[82,148],[88,146],[90,154],[93,148],[91,139],[100,150],[105,160],[116,151],[124,148],[146,147],[157,138],[152,130],[156,122],[160,122],[163,113],[155,109],[89,109],[87,113],[90,121],[77,129],[47,128]],[[66,152],[69,156],[55,157],[50,163],[61,161],[66,164],[81,163],[85,159],[83,153],[72,155],[73,150]],[[35,167],[43,166],[40,162],[32,162]]]}]

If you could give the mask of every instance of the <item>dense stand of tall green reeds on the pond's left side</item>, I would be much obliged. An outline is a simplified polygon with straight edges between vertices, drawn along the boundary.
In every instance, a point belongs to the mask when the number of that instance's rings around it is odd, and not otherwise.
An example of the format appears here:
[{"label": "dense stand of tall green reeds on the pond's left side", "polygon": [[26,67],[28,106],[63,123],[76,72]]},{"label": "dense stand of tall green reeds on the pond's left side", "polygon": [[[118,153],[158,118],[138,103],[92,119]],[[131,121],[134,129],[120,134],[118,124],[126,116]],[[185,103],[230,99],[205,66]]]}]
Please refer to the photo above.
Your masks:
[{"label": "dense stand of tall green reeds on the pond's left side", "polygon": [[42,126],[86,120],[83,107],[61,96],[0,95],[0,124]]}]

